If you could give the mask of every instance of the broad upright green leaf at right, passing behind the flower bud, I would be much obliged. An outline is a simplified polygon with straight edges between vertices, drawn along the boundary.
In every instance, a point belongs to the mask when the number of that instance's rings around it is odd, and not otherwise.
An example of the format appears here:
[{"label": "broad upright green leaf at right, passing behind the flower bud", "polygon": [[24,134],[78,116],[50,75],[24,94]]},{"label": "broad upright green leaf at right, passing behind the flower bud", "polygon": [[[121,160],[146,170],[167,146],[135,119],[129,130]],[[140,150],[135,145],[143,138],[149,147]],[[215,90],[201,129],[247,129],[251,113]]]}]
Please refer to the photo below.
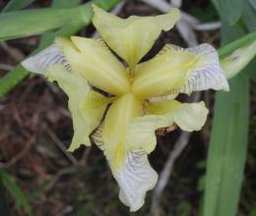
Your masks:
[{"label": "broad upright green leaf at right, passing behind the flower bud", "polygon": [[[232,32],[232,34],[230,34]],[[223,27],[223,43],[241,34],[237,27]],[[213,129],[207,159],[204,214],[234,216],[245,166],[249,82],[239,74],[229,81],[229,92],[217,92]]]}]

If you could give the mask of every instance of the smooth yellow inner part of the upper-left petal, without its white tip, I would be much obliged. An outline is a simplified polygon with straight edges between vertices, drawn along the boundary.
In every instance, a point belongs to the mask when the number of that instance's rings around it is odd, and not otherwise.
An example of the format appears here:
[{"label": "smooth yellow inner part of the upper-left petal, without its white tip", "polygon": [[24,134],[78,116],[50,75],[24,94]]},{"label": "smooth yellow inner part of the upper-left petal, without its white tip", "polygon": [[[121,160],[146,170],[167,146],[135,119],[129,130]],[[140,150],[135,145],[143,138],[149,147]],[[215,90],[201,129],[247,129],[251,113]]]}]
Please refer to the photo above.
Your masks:
[{"label": "smooth yellow inner part of the upper-left petal, without its white tip", "polygon": [[78,36],[71,39],[76,48],[64,47],[63,52],[74,71],[111,94],[129,91],[130,81],[125,68],[101,41]]}]

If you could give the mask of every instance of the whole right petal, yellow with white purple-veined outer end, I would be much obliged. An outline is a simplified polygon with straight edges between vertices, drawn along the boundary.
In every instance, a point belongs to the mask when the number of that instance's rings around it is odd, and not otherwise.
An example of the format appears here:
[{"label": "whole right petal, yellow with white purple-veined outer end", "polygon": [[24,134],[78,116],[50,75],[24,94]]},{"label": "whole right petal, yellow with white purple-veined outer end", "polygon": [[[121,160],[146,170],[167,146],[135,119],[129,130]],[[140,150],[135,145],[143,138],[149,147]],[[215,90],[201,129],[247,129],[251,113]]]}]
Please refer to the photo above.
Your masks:
[{"label": "whole right petal, yellow with white purple-veined outer end", "polygon": [[216,49],[204,43],[188,49],[166,45],[153,60],[138,67],[132,88],[142,97],[154,97],[209,88],[228,90],[228,83]]}]

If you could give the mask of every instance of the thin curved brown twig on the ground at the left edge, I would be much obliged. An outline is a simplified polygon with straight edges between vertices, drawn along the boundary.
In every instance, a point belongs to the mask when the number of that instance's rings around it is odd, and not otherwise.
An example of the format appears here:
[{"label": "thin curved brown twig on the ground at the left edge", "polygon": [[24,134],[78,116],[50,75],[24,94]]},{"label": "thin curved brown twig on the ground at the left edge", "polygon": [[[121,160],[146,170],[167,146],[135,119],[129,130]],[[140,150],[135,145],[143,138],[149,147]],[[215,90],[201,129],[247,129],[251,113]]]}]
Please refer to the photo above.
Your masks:
[{"label": "thin curved brown twig on the ground at the left edge", "polygon": [[0,168],[9,168],[16,164],[19,160],[21,160],[28,151],[32,148],[32,144],[34,143],[35,137],[32,136],[29,141],[25,144],[25,147],[19,151],[15,156],[13,156],[7,163],[0,163]]}]

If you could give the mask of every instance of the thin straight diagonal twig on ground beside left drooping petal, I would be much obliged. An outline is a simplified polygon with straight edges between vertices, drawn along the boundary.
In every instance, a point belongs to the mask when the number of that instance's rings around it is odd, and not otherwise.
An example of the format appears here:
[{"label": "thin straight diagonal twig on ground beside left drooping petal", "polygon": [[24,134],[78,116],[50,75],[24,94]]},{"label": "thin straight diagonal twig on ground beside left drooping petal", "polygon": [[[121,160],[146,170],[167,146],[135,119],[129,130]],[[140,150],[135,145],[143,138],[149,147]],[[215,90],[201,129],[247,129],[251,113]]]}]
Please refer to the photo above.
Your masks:
[{"label": "thin straight diagonal twig on ground beside left drooping petal", "polygon": [[59,149],[62,151],[62,153],[68,158],[68,160],[74,164],[77,165],[79,162],[78,160],[70,153],[67,151],[67,148],[65,147],[65,145],[63,144],[63,142],[58,138],[57,135],[55,135],[50,128],[47,125],[43,125],[43,128],[45,130],[45,132],[47,133],[47,135],[50,136],[50,138],[54,141],[54,143],[59,147]]}]

